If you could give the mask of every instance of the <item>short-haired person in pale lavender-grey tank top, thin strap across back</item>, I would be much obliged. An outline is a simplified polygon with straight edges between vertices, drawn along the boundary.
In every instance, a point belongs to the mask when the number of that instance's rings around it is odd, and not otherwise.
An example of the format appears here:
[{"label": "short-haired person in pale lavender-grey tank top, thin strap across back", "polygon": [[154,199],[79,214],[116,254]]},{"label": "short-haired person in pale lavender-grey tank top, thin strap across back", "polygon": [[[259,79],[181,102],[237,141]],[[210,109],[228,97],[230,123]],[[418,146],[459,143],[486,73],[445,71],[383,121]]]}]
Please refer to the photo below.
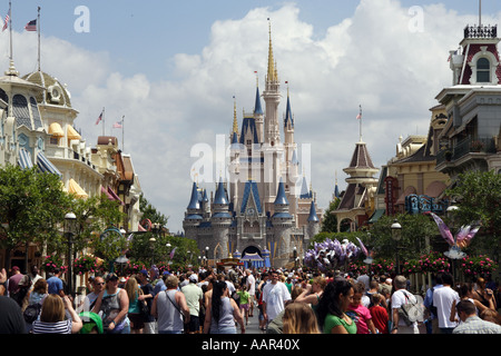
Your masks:
[{"label": "short-haired person in pale lavender-grey tank top, thin strap across back", "polygon": [[158,334],[183,334],[189,323],[189,308],[185,295],[178,290],[179,279],[167,276],[165,285],[167,289],[154,298],[151,316],[157,319]]}]

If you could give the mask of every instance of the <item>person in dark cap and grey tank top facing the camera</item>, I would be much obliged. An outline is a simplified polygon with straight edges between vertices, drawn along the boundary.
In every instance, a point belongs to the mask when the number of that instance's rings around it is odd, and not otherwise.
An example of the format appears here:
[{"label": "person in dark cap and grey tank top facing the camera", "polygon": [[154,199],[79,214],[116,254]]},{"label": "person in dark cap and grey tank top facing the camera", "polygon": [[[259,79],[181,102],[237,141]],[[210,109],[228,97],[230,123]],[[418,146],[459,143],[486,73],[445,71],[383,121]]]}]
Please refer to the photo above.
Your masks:
[{"label": "person in dark cap and grey tank top facing the camera", "polygon": [[125,289],[118,288],[118,276],[108,274],[106,288],[99,294],[92,313],[102,312],[102,327],[106,334],[130,334],[130,322],[127,317],[129,297]]}]

